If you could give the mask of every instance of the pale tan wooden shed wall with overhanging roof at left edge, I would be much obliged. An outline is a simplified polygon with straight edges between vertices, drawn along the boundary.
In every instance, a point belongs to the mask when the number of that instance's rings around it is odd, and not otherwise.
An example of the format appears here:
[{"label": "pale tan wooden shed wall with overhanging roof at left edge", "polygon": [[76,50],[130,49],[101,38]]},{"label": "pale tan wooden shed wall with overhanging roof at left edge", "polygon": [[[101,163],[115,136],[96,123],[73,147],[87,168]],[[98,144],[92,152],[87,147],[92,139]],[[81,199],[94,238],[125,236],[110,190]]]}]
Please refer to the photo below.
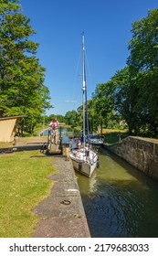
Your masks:
[{"label": "pale tan wooden shed wall with overhanging roof at left edge", "polygon": [[0,118],[0,142],[13,142],[17,125],[24,115]]}]

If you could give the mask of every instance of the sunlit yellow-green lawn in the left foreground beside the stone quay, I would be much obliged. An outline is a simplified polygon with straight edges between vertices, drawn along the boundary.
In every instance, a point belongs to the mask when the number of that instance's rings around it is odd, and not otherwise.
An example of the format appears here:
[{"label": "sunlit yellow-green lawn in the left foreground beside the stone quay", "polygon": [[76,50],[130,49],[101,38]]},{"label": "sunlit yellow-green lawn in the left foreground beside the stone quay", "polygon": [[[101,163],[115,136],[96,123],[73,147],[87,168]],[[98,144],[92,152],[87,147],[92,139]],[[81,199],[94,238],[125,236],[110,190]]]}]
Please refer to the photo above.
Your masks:
[{"label": "sunlit yellow-green lawn in the left foreground beside the stone quay", "polygon": [[52,158],[38,151],[0,155],[0,237],[31,237],[40,218],[32,212],[53,186]]}]

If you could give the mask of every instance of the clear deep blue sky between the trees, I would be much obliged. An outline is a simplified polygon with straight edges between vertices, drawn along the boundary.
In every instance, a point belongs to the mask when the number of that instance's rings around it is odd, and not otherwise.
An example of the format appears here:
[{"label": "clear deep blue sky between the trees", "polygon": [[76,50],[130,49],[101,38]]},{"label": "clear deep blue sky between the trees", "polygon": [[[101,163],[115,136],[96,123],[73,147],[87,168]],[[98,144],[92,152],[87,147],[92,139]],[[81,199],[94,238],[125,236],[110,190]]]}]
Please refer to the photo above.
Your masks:
[{"label": "clear deep blue sky between the trees", "polygon": [[47,69],[53,109],[47,115],[77,110],[81,104],[81,33],[85,32],[88,98],[96,85],[123,69],[129,56],[132,22],[158,8],[157,0],[21,0],[37,31],[37,58]]}]

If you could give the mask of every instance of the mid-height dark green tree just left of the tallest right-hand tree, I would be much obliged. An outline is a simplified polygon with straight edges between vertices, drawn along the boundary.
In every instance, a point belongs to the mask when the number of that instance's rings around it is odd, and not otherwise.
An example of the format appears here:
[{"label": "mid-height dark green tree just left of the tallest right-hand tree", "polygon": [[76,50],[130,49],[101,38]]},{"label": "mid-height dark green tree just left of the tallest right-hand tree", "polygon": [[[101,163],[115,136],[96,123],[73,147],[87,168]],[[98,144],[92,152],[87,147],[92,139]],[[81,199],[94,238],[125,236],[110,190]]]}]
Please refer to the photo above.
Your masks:
[{"label": "mid-height dark green tree just left of the tallest right-hand tree", "polygon": [[125,67],[118,70],[111,78],[114,84],[114,110],[121,119],[125,120],[129,127],[129,133],[137,133],[140,128],[140,118],[136,110],[139,97],[139,89],[136,86],[135,78],[132,77],[131,69]]}]

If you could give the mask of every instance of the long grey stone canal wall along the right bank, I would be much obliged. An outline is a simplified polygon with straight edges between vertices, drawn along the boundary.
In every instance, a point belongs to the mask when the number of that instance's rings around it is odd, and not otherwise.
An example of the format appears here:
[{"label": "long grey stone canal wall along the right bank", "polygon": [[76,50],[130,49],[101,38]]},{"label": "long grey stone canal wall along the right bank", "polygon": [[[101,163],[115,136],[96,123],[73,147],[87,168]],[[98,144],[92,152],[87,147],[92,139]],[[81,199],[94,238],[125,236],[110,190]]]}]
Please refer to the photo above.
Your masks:
[{"label": "long grey stone canal wall along the right bank", "polygon": [[158,180],[158,142],[140,137],[127,137],[108,148],[148,176]]}]

